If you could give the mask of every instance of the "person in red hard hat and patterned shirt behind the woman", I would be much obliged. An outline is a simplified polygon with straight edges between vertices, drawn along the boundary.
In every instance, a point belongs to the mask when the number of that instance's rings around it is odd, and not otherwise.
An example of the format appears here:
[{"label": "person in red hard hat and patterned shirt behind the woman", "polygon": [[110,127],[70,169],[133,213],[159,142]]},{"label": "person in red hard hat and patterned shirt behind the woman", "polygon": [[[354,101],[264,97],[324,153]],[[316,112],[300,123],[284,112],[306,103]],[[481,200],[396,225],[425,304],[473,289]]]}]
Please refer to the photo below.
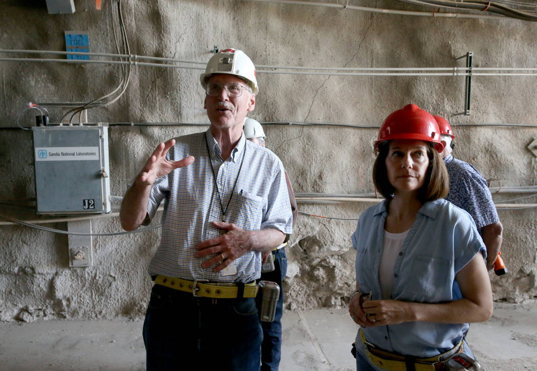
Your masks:
[{"label": "person in red hard hat and patterned shirt behind the woman", "polygon": [[449,174],[449,193],[446,200],[465,209],[475,221],[477,230],[483,238],[487,248],[487,269],[494,268],[494,261],[502,246],[502,223],[487,180],[474,168],[473,165],[456,159],[452,155],[455,135],[446,119],[433,116],[440,128],[441,141],[444,150],[441,153]]}]

